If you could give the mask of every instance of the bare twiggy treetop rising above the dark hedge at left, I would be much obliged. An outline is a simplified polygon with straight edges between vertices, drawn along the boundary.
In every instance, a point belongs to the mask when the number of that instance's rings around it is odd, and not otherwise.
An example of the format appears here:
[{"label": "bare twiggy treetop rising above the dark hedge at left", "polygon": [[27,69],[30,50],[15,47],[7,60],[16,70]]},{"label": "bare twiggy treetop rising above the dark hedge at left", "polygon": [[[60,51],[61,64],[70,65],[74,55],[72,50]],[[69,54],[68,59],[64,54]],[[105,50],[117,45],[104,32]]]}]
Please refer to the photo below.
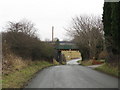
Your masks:
[{"label": "bare twiggy treetop rising above the dark hedge at left", "polygon": [[30,35],[30,36],[34,36],[35,32],[37,30],[35,28],[35,25],[26,19],[19,21],[17,23],[9,22],[6,29],[7,29],[7,31],[22,32],[22,33]]}]

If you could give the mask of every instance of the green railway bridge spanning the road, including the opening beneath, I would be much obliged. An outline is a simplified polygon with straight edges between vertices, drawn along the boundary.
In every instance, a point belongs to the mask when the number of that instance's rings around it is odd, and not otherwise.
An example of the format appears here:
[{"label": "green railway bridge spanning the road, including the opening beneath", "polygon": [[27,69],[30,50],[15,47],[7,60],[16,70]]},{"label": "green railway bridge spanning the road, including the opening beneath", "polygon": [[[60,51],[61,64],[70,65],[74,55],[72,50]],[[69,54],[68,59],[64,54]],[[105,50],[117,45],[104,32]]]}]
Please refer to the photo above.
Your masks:
[{"label": "green railway bridge spanning the road, including the opening beneath", "polygon": [[55,43],[55,59],[58,62],[81,58],[78,46],[73,42],[56,41]]}]

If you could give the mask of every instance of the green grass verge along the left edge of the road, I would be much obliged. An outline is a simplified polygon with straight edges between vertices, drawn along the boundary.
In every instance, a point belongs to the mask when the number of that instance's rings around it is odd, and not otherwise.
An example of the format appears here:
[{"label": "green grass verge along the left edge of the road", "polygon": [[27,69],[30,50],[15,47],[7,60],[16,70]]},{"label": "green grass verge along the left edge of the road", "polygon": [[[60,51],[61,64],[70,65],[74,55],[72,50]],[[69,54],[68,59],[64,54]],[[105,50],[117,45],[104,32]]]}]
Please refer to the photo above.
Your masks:
[{"label": "green grass verge along the left edge of the road", "polygon": [[2,76],[2,88],[23,88],[33,75],[42,68],[52,66],[46,61],[35,61],[21,70]]}]

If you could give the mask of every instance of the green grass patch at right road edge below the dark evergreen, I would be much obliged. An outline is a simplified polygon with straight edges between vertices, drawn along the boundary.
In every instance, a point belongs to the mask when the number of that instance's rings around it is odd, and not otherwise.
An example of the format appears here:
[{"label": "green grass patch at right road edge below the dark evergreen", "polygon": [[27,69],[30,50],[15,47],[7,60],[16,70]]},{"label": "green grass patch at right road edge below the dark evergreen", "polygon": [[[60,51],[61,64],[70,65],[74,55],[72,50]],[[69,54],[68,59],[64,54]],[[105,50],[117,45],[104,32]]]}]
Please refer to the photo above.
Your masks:
[{"label": "green grass patch at right road edge below the dark evergreen", "polygon": [[102,66],[96,67],[95,70],[102,71],[112,76],[120,77],[120,71],[118,69],[118,66],[112,66],[108,63],[105,63]]}]

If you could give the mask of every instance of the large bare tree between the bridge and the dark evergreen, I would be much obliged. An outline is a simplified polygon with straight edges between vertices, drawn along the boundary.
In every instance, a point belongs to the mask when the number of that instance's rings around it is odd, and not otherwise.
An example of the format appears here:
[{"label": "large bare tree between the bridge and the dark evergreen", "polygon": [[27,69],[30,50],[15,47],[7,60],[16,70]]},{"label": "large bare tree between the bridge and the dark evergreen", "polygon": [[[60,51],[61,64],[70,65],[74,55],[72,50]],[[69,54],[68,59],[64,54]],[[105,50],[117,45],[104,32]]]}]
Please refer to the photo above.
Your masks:
[{"label": "large bare tree between the bridge and the dark evergreen", "polygon": [[[72,25],[67,29],[81,49],[88,50],[90,58],[97,57],[103,47],[103,25],[99,17],[79,16],[72,19]],[[87,51],[84,51],[87,52]]]}]

